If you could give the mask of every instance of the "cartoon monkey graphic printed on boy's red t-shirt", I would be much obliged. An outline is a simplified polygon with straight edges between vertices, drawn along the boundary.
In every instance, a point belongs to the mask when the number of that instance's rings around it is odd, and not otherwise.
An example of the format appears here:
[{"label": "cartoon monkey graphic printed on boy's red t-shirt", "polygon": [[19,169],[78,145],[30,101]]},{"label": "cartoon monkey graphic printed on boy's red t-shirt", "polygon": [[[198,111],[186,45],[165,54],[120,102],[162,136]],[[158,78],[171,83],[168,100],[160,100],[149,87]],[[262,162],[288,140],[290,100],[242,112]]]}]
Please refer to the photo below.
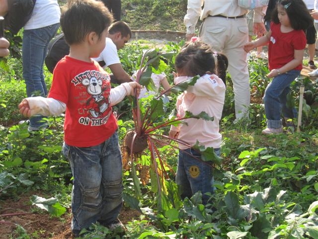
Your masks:
[{"label": "cartoon monkey graphic printed on boy's red t-shirt", "polygon": [[81,84],[86,87],[86,91],[90,95],[86,101],[86,109],[90,116],[93,118],[102,117],[109,106],[109,96],[107,98],[103,96],[103,92],[108,89],[108,86],[103,88],[102,81],[95,77],[84,78]]}]

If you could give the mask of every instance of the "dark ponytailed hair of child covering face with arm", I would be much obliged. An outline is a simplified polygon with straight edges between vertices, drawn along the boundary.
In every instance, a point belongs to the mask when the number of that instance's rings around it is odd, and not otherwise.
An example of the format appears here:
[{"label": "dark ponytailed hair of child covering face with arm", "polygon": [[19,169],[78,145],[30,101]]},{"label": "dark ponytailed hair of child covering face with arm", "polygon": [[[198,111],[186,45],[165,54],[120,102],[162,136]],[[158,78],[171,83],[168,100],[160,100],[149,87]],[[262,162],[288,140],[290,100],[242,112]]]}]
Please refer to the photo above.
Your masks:
[{"label": "dark ponytailed hair of child covering face with arm", "polygon": [[[217,67],[215,58],[217,59]],[[229,61],[225,55],[214,53],[208,44],[196,40],[195,42],[187,42],[182,47],[174,64],[176,69],[182,69],[188,76],[203,76],[206,73],[212,73],[217,74],[225,82]]]}]

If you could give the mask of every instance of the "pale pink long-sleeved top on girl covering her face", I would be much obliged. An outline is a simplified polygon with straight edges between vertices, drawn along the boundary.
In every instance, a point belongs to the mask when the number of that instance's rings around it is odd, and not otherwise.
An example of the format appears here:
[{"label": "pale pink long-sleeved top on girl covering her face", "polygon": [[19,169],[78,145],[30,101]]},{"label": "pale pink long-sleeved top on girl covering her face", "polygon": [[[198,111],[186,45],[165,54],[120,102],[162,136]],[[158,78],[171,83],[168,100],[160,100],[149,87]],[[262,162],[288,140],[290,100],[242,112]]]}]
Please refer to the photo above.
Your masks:
[{"label": "pale pink long-sleeved top on girl covering her face", "polygon": [[[174,84],[187,80],[188,76],[174,78]],[[225,100],[225,85],[216,75],[206,74],[200,77],[194,86],[189,86],[177,98],[177,116],[183,117],[186,111],[193,115],[207,113],[214,120],[185,119],[177,126],[171,125],[171,130],[179,132],[178,138],[191,146],[199,141],[205,147],[220,148],[222,136],[219,132],[219,121]],[[179,143],[180,149],[188,146]]]}]

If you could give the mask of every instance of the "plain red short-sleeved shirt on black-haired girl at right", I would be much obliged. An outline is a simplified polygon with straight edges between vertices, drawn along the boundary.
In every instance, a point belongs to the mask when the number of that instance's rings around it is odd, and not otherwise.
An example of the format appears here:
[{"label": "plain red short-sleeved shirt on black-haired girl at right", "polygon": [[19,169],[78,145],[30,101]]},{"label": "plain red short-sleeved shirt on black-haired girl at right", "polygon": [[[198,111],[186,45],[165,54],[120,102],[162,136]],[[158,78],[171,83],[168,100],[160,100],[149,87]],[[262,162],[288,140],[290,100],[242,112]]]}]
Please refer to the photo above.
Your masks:
[{"label": "plain red short-sleeved shirt on black-haired girl at right", "polygon": [[[306,47],[306,36],[303,30],[293,30],[282,33],[281,24],[270,23],[272,35],[268,44],[269,70],[278,69],[294,59],[294,51]],[[298,65],[294,70],[302,70],[303,65]]]}]

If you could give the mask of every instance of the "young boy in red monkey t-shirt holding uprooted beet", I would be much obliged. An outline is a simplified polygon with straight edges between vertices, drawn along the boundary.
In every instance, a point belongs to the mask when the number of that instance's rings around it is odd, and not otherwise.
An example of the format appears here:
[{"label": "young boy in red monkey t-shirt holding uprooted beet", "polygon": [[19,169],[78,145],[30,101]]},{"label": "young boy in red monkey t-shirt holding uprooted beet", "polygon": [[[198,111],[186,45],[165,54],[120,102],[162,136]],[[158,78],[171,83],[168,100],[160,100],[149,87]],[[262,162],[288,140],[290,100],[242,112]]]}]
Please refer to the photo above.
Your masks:
[{"label": "young boy in red monkey t-shirt holding uprooted beet", "polygon": [[101,1],[70,1],[61,16],[70,54],[57,64],[48,98],[26,98],[19,105],[27,117],[66,111],[63,153],[74,176],[71,228],[76,237],[96,222],[120,226],[122,161],[111,106],[135,89],[138,96],[141,86],[129,82],[111,89],[109,74],[91,59],[104,49],[112,20]]}]

